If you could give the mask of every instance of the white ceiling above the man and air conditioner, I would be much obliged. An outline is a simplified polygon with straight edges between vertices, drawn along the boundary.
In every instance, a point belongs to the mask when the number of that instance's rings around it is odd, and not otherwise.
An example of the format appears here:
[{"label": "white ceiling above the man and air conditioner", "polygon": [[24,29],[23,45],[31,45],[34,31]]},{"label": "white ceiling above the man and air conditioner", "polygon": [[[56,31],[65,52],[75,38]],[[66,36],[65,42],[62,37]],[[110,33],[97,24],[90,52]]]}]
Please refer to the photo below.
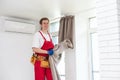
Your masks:
[{"label": "white ceiling above the man and air conditioner", "polygon": [[94,3],[95,0],[0,0],[0,16],[54,19],[91,8]]}]

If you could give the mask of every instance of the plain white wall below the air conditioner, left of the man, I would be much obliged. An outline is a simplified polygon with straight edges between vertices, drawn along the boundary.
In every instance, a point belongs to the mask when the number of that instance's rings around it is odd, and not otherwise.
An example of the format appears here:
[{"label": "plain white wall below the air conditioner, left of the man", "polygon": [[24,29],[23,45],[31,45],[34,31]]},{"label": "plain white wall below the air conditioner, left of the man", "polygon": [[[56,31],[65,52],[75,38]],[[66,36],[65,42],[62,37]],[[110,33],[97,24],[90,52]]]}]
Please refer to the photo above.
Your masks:
[{"label": "plain white wall below the air conditioner, left of the man", "polygon": [[4,32],[0,19],[0,80],[33,80],[32,34]]}]

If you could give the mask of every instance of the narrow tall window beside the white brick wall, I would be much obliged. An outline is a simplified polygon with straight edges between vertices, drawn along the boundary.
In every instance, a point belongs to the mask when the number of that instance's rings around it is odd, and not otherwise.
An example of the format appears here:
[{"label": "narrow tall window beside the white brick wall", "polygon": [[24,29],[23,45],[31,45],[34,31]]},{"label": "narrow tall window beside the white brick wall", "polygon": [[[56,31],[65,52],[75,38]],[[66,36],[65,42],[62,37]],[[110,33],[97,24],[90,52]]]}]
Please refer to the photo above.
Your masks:
[{"label": "narrow tall window beside the white brick wall", "polygon": [[99,79],[99,50],[98,50],[98,33],[96,18],[89,19],[89,37],[90,37],[90,58],[91,58],[91,80]]}]

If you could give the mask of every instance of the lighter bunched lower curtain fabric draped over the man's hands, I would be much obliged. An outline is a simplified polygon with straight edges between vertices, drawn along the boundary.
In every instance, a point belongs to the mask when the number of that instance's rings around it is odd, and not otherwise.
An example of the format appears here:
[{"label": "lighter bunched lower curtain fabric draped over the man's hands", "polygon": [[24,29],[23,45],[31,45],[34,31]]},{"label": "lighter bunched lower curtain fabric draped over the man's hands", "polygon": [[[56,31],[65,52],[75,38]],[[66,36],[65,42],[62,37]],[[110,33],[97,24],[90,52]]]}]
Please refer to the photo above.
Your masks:
[{"label": "lighter bunched lower curtain fabric draped over the man's hands", "polygon": [[61,55],[63,51],[67,50],[69,47],[73,47],[73,45],[70,40],[66,39],[63,42],[56,44],[53,49],[54,54],[52,56],[49,56],[49,62],[52,71],[53,80],[61,80],[57,70],[57,64],[61,60]]}]

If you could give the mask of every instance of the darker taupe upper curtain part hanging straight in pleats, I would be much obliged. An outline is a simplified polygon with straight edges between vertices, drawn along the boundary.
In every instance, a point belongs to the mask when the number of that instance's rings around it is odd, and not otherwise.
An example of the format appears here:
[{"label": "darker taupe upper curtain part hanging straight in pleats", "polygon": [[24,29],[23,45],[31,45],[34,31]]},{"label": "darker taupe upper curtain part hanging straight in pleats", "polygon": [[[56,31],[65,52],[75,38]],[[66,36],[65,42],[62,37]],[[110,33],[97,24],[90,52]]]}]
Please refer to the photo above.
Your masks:
[{"label": "darker taupe upper curtain part hanging straight in pleats", "polygon": [[[73,44],[74,16],[65,16],[60,20],[58,42],[68,39]],[[73,48],[74,46],[70,47]]]}]

